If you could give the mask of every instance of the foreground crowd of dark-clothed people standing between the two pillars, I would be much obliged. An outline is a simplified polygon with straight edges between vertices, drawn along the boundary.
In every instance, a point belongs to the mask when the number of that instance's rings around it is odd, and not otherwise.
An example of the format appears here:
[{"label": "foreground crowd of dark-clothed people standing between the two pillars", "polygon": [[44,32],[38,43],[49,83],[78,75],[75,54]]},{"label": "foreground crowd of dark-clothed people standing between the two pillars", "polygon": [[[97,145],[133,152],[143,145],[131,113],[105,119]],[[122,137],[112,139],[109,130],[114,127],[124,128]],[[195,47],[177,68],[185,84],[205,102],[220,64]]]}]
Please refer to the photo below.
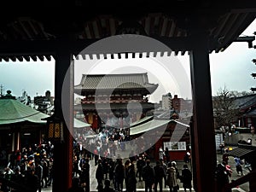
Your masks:
[{"label": "foreground crowd of dark-clothed people standing between the two pillars", "polygon": [[[132,154],[133,152],[131,152]],[[73,160],[73,177],[79,178],[80,185],[84,186],[84,191],[90,191],[90,164],[91,156],[82,154],[81,159],[75,156]],[[94,155],[94,158],[96,155]],[[90,159],[91,158],[91,159]],[[192,173],[189,170],[189,162],[184,162],[183,170],[177,169],[175,161],[156,160],[155,165],[151,165],[151,160],[145,154],[130,156],[129,159],[122,159],[120,156],[113,160],[105,156],[96,158],[96,182],[98,191],[114,190],[121,192],[136,192],[137,183],[143,182],[145,192],[163,191],[163,187],[169,187],[171,192],[177,192],[179,189],[177,180],[183,183],[183,188],[192,189]],[[184,158],[185,160],[185,158]],[[81,167],[79,169],[79,167]],[[107,184],[106,184],[107,183]],[[113,183],[113,187],[110,184]],[[106,189],[107,188],[107,189]]]}]

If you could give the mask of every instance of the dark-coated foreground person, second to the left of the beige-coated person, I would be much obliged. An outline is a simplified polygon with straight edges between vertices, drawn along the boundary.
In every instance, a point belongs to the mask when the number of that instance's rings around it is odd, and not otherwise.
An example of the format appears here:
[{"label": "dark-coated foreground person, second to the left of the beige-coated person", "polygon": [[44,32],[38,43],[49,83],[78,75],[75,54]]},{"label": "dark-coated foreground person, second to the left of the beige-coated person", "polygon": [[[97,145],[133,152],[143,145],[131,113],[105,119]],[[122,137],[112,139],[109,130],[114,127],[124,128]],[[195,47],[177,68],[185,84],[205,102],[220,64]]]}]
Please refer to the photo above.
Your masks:
[{"label": "dark-coated foreground person, second to the left of the beige-coated person", "polygon": [[145,183],[145,192],[152,192],[154,183],[154,168],[150,166],[150,160],[146,160],[146,166],[143,166],[143,180]]}]

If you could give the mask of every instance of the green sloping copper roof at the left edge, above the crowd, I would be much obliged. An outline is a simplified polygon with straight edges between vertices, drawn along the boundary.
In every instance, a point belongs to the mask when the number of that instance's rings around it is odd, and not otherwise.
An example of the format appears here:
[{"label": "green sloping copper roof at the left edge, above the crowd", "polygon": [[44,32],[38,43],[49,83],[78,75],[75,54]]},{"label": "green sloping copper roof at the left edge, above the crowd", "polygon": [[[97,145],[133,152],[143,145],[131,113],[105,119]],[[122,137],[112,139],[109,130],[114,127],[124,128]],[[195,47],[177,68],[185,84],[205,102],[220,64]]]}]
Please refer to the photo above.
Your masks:
[{"label": "green sloping copper roof at the left edge, above the crowd", "polygon": [[0,125],[15,124],[24,121],[46,123],[41,120],[49,115],[41,113],[13,99],[0,99]]}]

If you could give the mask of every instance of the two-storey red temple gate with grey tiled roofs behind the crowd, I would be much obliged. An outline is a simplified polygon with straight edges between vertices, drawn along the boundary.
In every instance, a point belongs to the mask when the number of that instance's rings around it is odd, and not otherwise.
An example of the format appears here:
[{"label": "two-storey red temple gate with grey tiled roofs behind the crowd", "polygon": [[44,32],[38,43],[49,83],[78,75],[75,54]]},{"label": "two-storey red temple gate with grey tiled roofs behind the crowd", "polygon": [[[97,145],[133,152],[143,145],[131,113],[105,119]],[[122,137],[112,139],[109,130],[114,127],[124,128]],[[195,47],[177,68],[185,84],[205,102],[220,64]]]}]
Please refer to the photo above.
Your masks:
[{"label": "two-storey red temple gate with grey tiled roofs behind the crowd", "polygon": [[157,87],[148,83],[147,73],[84,74],[74,86],[74,93],[84,96],[74,106],[75,116],[84,118],[94,130],[128,127],[154,109],[148,95]]}]

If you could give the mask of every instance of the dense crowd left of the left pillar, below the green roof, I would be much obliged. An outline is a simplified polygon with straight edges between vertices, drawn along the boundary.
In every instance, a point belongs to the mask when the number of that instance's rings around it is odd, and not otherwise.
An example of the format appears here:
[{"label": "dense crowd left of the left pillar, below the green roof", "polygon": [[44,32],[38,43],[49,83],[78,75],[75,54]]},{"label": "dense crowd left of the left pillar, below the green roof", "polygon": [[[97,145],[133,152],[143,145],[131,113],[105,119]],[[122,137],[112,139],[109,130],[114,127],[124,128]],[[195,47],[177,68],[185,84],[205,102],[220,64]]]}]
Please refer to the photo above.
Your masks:
[{"label": "dense crowd left of the left pillar, below the green roof", "polygon": [[17,188],[41,192],[42,188],[47,188],[53,182],[54,160],[51,143],[22,148],[10,154],[8,160],[2,163],[4,169],[1,176],[14,183],[9,186],[2,183],[3,192],[16,191]]}]

